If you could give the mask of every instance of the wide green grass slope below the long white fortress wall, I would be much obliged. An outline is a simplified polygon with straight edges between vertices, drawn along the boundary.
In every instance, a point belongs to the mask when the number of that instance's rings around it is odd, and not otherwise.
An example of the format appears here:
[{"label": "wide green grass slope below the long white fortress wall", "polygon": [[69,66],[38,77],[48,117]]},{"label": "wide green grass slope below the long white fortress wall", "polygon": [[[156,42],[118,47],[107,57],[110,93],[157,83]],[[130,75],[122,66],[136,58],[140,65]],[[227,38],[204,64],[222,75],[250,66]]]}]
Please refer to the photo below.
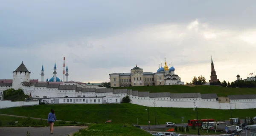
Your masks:
[{"label": "wide green grass slope below the long white fortress wall", "polygon": [[[36,118],[47,119],[50,109],[55,110],[57,120],[87,122],[87,123],[105,123],[107,117],[107,105],[105,104],[64,104],[64,105],[37,105],[30,107],[14,107],[0,109],[0,113],[30,116]],[[138,124],[148,125],[148,111],[145,111],[145,106],[133,104],[108,104],[108,120],[112,120],[113,124]],[[188,119],[196,119],[196,113],[193,108],[160,108],[150,107],[151,125],[155,124],[154,109],[156,110],[156,119],[158,124],[165,122],[181,123],[181,117]],[[232,117],[244,119],[246,117],[254,117],[256,109],[233,109]],[[228,120],[230,118],[230,110],[217,109],[198,109],[199,119]]]}]

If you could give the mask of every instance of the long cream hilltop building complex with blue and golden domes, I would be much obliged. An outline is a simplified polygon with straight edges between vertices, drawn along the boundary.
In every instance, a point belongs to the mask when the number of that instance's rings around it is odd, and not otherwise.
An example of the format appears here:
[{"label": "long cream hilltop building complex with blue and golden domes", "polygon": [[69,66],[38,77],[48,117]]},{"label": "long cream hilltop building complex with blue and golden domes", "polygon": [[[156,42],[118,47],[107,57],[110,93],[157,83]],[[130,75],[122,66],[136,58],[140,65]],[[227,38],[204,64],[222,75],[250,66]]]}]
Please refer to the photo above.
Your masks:
[{"label": "long cream hilltop building complex with blue and golden domes", "polygon": [[161,64],[157,72],[143,72],[137,65],[128,73],[109,74],[111,87],[122,86],[152,86],[152,85],[184,85],[180,77],[175,74],[175,68],[167,66],[166,58],[164,67]]}]

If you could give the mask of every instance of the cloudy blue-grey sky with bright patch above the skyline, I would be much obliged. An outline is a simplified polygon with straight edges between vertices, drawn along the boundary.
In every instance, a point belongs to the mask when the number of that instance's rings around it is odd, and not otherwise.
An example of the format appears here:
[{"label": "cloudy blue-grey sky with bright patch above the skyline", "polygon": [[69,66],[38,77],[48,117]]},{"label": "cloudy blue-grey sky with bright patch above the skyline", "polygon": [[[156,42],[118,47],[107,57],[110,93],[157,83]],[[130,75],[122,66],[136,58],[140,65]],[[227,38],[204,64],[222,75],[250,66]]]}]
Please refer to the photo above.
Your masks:
[{"label": "cloudy blue-grey sky with bright patch above the skyline", "polygon": [[1,0],[0,79],[23,61],[41,81],[109,82],[137,64],[157,72],[172,63],[183,82],[235,81],[256,72],[255,0]]}]

